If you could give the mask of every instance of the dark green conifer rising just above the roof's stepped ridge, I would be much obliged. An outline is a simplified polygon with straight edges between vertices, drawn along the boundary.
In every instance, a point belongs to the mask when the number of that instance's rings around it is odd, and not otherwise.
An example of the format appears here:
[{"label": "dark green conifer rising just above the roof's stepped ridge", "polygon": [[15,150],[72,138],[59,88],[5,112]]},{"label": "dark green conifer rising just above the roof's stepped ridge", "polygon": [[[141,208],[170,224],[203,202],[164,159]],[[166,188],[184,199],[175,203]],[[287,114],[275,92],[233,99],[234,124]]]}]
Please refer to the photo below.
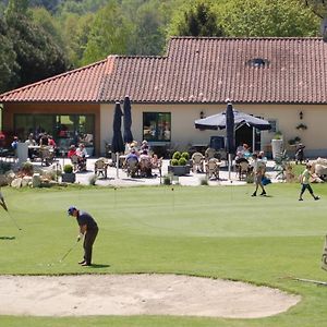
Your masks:
[{"label": "dark green conifer rising just above the roof's stepped ridge", "polygon": [[218,24],[217,14],[207,1],[198,1],[183,12],[169,27],[170,35],[182,36],[222,36],[223,29]]}]

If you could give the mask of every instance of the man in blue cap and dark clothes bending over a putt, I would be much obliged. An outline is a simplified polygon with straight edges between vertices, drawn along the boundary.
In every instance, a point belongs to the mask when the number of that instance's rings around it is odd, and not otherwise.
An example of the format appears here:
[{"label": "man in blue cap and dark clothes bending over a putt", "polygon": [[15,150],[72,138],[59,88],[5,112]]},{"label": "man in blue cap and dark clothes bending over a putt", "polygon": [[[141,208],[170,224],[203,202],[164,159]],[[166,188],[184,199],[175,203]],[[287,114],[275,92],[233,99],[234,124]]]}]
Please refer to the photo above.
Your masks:
[{"label": "man in blue cap and dark clothes bending over a putt", "polygon": [[70,207],[68,214],[75,217],[80,226],[77,242],[84,237],[84,257],[78,264],[82,266],[92,266],[92,250],[99,231],[98,225],[89,214],[81,211],[76,207]]}]

